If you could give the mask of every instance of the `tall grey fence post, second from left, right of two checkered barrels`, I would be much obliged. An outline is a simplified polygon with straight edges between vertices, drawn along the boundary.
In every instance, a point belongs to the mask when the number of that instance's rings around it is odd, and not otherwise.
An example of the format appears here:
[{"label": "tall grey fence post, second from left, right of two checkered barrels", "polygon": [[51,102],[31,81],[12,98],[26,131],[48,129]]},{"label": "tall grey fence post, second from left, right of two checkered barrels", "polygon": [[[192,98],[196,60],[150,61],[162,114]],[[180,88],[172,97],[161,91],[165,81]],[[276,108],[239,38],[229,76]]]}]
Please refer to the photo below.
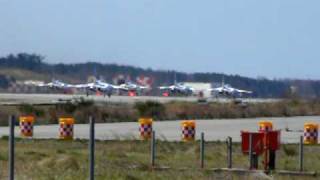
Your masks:
[{"label": "tall grey fence post, second from left, right of two checkered barrels", "polygon": [[89,167],[89,174],[90,174],[90,180],[94,180],[94,149],[95,149],[95,120],[93,117],[89,117],[90,121],[90,140],[89,140],[89,161],[90,161],[90,167]]}]

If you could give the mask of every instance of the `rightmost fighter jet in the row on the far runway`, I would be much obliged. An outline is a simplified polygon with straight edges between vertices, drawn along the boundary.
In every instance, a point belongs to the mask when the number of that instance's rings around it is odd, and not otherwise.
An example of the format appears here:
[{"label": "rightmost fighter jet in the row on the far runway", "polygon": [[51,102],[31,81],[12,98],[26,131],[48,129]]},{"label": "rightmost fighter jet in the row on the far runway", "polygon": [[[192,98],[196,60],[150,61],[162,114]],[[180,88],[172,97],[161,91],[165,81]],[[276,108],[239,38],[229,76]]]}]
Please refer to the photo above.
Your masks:
[{"label": "rightmost fighter jet in the row on the far runway", "polygon": [[243,94],[252,94],[252,91],[233,88],[230,85],[225,84],[224,80],[222,80],[221,87],[211,88],[208,90],[211,92],[218,93],[219,95],[232,96],[232,97],[235,97],[236,95],[242,96]]}]

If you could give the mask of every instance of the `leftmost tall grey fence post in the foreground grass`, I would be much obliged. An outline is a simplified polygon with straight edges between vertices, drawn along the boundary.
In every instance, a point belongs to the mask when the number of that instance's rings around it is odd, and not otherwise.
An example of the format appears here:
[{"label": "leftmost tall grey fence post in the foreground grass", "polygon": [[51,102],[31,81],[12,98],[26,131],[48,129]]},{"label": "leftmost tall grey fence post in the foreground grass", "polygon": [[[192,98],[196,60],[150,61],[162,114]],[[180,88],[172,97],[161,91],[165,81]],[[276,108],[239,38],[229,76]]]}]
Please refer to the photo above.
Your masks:
[{"label": "leftmost tall grey fence post in the foreground grass", "polygon": [[9,126],[9,180],[14,180],[14,116],[9,117]]}]

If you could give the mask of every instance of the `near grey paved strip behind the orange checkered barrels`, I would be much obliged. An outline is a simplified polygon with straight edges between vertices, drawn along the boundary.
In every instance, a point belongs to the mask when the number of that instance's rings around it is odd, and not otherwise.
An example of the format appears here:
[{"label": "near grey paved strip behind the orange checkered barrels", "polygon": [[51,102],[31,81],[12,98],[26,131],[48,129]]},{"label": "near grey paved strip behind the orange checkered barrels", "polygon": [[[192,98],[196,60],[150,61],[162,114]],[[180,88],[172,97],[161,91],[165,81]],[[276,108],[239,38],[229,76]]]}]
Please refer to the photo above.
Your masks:
[{"label": "near grey paved strip behind the orange checkered barrels", "polygon": [[[290,117],[290,118],[255,118],[255,119],[221,119],[221,120],[197,120],[196,138],[199,139],[200,132],[205,133],[206,140],[225,141],[228,136],[233,141],[240,142],[240,131],[257,131],[260,120],[270,120],[276,129],[281,129],[281,141],[285,143],[299,142],[302,132],[286,132],[285,129],[303,130],[305,122],[320,123],[320,116],[309,117]],[[100,140],[118,139],[138,139],[138,123],[108,123],[96,124],[96,138]],[[179,141],[181,139],[180,121],[161,121],[155,122],[154,130],[157,138],[169,141]],[[57,138],[58,125],[35,126],[34,138]],[[8,128],[0,128],[0,136],[8,135]],[[16,127],[15,133],[19,136],[19,128]],[[75,138],[87,139],[89,137],[89,125],[75,125]]]}]

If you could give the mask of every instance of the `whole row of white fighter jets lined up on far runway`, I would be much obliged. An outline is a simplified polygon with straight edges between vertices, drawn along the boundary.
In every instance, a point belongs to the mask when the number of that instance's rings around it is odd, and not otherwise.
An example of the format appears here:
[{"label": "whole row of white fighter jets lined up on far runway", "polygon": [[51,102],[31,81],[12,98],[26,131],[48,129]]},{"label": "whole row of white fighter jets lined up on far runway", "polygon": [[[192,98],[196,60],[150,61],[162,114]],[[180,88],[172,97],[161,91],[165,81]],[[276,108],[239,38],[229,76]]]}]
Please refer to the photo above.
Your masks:
[{"label": "whole row of white fighter jets lined up on far runway", "polygon": [[[38,84],[40,87],[48,87],[52,89],[60,89],[60,90],[68,90],[68,89],[80,89],[85,90],[86,94],[89,95],[89,92],[100,92],[103,95],[111,96],[115,91],[118,92],[127,92],[129,96],[135,96],[138,93],[144,90],[150,90],[150,87],[140,86],[138,84],[127,82],[120,85],[113,85],[104,82],[103,80],[96,80],[91,83],[86,84],[68,84],[59,80],[53,80],[49,83]],[[184,95],[190,96],[195,93],[195,89],[190,86],[186,86],[183,83],[174,83],[170,86],[160,86],[158,87],[160,91],[163,92],[164,96],[171,95]],[[221,87],[206,89],[206,91],[211,92],[211,94],[215,93],[218,95],[223,95],[226,97],[235,97],[236,95],[242,96],[243,94],[252,94],[252,91],[236,89],[231,87],[230,85],[224,84],[222,81]]]}]

